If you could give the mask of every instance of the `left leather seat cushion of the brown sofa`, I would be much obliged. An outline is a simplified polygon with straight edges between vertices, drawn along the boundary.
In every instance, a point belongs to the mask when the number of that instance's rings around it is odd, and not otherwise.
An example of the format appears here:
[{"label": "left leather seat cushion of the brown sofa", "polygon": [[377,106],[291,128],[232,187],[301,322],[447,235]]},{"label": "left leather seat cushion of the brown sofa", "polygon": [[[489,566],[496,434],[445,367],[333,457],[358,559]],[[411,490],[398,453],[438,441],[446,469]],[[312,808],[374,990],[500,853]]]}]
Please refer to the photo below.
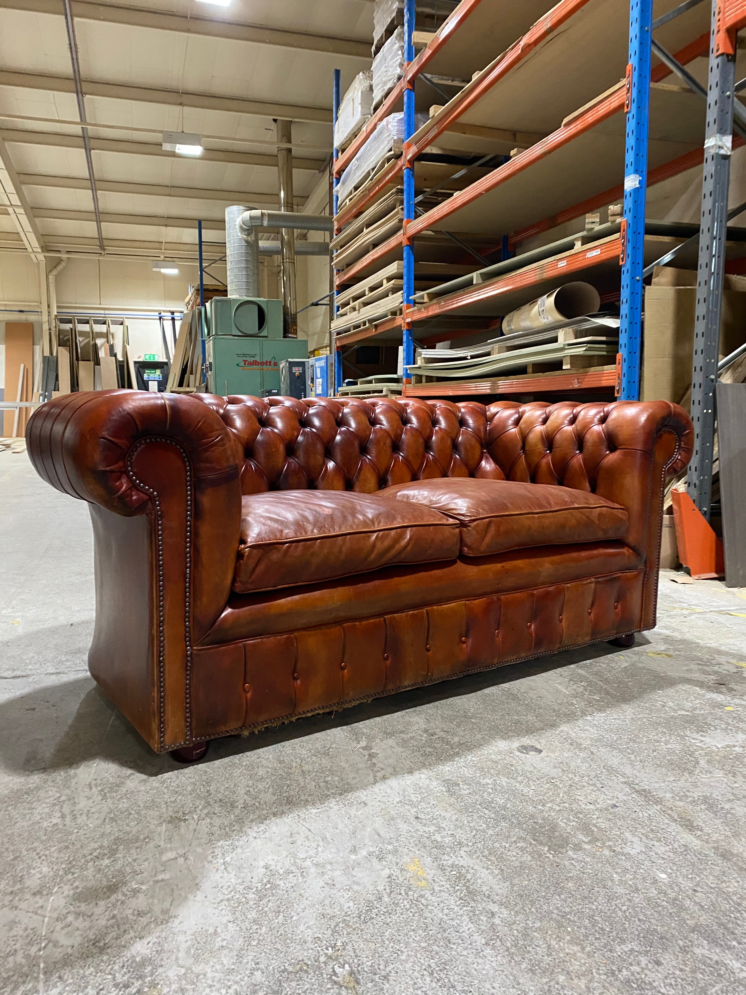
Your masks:
[{"label": "left leather seat cushion of the brown sofa", "polygon": [[344,491],[249,495],[233,589],[245,594],[453,560],[459,546],[459,522],[421,504]]}]

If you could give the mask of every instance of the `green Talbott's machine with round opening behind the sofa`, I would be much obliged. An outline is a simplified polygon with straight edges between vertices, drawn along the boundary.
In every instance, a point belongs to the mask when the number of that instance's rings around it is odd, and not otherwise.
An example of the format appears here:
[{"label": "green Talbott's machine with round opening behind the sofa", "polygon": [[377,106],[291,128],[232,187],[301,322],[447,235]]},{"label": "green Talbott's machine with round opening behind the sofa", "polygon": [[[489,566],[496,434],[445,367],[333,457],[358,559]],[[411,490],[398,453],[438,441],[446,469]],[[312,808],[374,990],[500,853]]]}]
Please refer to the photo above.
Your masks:
[{"label": "green Talbott's machine with round opening behind the sofa", "polygon": [[207,389],[211,394],[280,390],[280,362],[305,359],[302,338],[282,338],[282,301],[212,298],[205,307]]}]

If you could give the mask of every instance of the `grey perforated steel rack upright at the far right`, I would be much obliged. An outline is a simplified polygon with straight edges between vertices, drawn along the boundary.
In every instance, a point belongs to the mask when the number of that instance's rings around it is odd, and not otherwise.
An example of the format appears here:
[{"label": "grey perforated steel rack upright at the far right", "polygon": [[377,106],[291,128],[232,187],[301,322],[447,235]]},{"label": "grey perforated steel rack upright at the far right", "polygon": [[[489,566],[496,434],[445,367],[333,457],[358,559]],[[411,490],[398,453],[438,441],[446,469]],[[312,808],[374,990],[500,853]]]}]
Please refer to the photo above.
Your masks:
[{"label": "grey perforated steel rack upright at the far right", "polygon": [[719,8],[718,0],[712,0],[702,211],[699,220],[697,297],[691,365],[694,454],[686,475],[686,491],[708,521],[712,491],[715,384],[725,272],[725,232],[728,223],[728,183],[733,139],[735,81],[735,57],[722,51],[719,44]]}]

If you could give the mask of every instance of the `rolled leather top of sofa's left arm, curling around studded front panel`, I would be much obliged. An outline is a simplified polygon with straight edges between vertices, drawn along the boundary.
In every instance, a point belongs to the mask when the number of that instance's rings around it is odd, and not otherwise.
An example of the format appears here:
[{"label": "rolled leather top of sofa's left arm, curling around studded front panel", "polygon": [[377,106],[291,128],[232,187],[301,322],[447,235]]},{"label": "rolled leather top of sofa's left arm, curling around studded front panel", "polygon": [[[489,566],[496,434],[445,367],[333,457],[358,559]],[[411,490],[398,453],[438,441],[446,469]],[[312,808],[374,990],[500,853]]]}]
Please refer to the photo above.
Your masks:
[{"label": "rolled leather top of sofa's left arm, curling around studded front panel", "polygon": [[234,484],[240,505],[235,438],[218,414],[189,396],[66,394],[38,408],[26,429],[29,457],[43,480],[123,515],[142,513],[150,500],[129,476],[127,461],[138,442],[155,438],[173,440],[188,454],[195,488]]}]

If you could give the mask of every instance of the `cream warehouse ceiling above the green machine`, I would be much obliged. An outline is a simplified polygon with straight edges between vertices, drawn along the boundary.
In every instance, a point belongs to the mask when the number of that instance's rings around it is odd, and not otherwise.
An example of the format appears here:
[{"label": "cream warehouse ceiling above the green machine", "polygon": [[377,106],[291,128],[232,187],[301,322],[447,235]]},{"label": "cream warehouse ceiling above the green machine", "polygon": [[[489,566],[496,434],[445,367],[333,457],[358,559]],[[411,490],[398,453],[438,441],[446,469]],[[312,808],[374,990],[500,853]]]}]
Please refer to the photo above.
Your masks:
[{"label": "cream warehouse ceiling above the green machine", "polygon": [[[196,225],[191,222],[200,218],[207,225],[207,241],[219,242],[226,204],[251,206],[255,194],[270,198],[270,204],[276,202],[273,113],[257,112],[260,108],[252,103],[286,104],[299,108],[299,113],[301,108],[316,108],[330,117],[334,68],[341,70],[344,92],[354,75],[370,66],[367,56],[354,54],[349,47],[344,54],[343,44],[336,54],[319,49],[333,49],[335,39],[370,43],[372,0],[233,0],[225,9],[196,0],[117,0],[116,6],[134,11],[121,15],[124,20],[141,19],[136,12],[145,11],[176,14],[192,23],[174,23],[174,30],[161,21],[159,27],[119,24],[114,19],[120,15],[107,3],[100,8],[100,19],[88,19],[98,16],[93,7],[86,9],[87,16],[76,17],[84,91],[86,83],[140,91],[86,95],[104,241],[130,246],[165,242],[189,249],[196,242]],[[149,15],[143,16],[147,20]],[[288,43],[297,35],[314,37],[308,38],[307,47],[297,37],[295,47],[285,45],[280,35],[272,36],[273,44],[260,44],[215,37],[209,23],[195,31],[192,24],[197,21],[277,29],[292,33]],[[78,104],[75,94],[66,92],[72,89],[73,73],[62,3],[59,13],[55,8],[47,14],[0,8],[0,72],[20,74],[0,80],[0,115],[15,115],[0,117],[0,130],[24,177],[32,210],[41,215],[42,233],[54,243],[69,239],[71,246],[94,249],[93,201],[77,123]],[[45,82],[44,77],[51,79]],[[194,105],[201,97],[229,102],[225,109]],[[230,100],[247,102],[237,106]],[[65,121],[74,123],[61,123]],[[206,157],[189,159],[162,152],[162,130],[201,134]],[[292,134],[293,186],[300,205],[316,186],[319,166],[331,151],[331,125],[293,119]],[[53,140],[62,144],[52,144]],[[108,147],[102,148],[103,143]],[[222,161],[221,154],[239,158]],[[262,162],[259,156],[268,158]],[[302,160],[300,167],[297,163]],[[105,189],[107,184],[137,188]],[[201,195],[202,191],[211,196]],[[265,206],[267,201],[257,203]],[[83,214],[85,219],[43,217],[57,211]],[[107,216],[116,217],[116,222],[106,221]],[[127,216],[132,220],[124,223]],[[139,219],[158,219],[158,223],[140,224]],[[189,224],[168,225],[169,219]],[[0,232],[14,232],[7,214],[0,213]]]}]

